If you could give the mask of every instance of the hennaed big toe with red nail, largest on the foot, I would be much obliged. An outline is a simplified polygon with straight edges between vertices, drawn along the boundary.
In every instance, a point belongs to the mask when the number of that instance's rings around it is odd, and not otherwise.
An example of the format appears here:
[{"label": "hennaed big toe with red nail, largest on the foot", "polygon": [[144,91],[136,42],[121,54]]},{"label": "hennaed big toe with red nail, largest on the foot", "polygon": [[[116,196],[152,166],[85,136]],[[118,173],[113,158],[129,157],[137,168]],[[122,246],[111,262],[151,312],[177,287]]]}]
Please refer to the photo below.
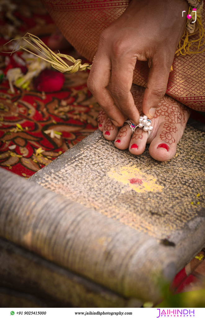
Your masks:
[{"label": "hennaed big toe with red nail, largest on the foot", "polygon": [[155,160],[167,161],[174,157],[176,146],[182,136],[182,127],[171,122],[162,122],[156,137],[149,146],[149,154]]}]

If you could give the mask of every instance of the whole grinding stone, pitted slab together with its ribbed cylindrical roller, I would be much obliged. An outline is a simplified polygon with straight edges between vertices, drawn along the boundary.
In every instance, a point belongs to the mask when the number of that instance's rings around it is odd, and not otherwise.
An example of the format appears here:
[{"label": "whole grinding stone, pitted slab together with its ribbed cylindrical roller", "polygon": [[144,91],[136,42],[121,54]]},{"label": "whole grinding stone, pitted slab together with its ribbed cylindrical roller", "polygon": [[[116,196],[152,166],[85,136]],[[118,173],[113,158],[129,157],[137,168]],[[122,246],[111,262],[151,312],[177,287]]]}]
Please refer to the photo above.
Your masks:
[{"label": "whole grinding stone, pitted slab together with its ribbed cylindrical roller", "polygon": [[204,132],[169,162],[101,132],[25,180],[1,169],[0,236],[128,300],[160,298],[205,245]]}]

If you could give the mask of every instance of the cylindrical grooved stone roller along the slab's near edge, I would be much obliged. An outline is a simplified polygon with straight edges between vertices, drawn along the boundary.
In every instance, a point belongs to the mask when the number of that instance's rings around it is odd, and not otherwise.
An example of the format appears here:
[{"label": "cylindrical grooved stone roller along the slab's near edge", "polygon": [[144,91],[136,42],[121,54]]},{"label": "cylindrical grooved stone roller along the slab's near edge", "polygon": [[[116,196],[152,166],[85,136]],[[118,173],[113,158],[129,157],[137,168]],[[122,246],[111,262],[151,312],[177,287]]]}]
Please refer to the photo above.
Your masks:
[{"label": "cylindrical grooved stone roller along the slab's near edge", "polygon": [[[159,244],[147,233],[5,169],[0,169],[0,179],[0,237],[3,242],[5,239],[11,241],[75,273],[75,290],[80,297],[83,297],[80,290],[85,290],[84,301],[88,285],[93,291],[89,293],[87,304],[91,301],[105,307],[106,300],[109,300],[112,307],[118,307],[118,300],[122,297],[125,304],[161,298],[159,280],[171,280],[176,273],[174,246]],[[7,253],[6,244],[3,245],[2,255]],[[7,263],[4,262],[4,266],[8,266],[14,275],[18,273],[16,266],[22,268],[27,262],[25,258],[20,260],[20,254],[5,257]],[[181,256],[183,261],[184,255]],[[32,260],[35,262],[34,256]],[[43,271],[42,268],[40,273]],[[35,273],[32,271],[30,279],[36,277],[36,284],[42,286],[43,282],[43,289],[50,289],[50,281],[42,280],[41,274],[35,276]],[[77,283],[83,282],[83,278],[99,287],[91,288],[93,284],[82,283],[82,288],[78,288]],[[16,279],[19,279],[18,274]],[[63,288],[66,288],[66,275],[63,281]],[[107,298],[109,293],[104,292],[105,288],[111,294],[114,292],[113,297]],[[98,290],[96,297],[94,290]],[[75,306],[74,302],[72,304]],[[122,301],[120,304],[122,306]]]}]

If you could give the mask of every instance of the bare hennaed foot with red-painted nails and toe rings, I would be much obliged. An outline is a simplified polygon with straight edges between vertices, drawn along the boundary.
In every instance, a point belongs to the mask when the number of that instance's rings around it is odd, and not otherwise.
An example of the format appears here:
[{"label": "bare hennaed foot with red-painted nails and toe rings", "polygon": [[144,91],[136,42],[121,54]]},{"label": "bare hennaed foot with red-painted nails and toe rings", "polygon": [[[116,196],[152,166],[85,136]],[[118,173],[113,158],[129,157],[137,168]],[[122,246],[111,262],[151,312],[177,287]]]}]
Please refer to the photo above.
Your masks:
[{"label": "bare hennaed foot with red-painted nails and toe rings", "polygon": [[[142,114],[142,99],[144,88],[134,85],[131,89],[135,105]],[[150,144],[149,154],[158,161],[167,161],[176,153],[176,146],[181,139],[188,121],[190,110],[173,98],[165,95],[156,108],[155,116],[151,121],[153,131],[148,138],[148,132],[143,128],[136,128],[132,135],[129,124],[121,128],[114,126],[102,110],[98,115],[98,128],[103,131],[107,140],[115,140],[118,149],[129,148],[130,153],[141,155],[146,143]]]}]

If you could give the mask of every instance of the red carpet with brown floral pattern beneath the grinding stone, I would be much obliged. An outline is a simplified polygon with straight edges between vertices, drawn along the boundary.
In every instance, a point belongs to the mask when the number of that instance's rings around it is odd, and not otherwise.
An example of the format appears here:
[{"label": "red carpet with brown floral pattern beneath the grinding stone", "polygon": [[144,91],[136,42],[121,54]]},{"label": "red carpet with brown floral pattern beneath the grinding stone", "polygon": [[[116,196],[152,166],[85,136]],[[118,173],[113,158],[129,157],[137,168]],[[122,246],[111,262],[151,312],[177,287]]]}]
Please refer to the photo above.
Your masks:
[{"label": "red carpet with brown floral pattern beneath the grinding stone", "polygon": [[[16,3],[12,7],[14,2],[5,2],[0,13],[1,51],[5,51],[3,44],[9,39],[26,31],[46,42],[55,28],[40,3],[31,1],[30,7]],[[17,67],[15,63],[9,54],[1,53],[0,166],[29,177],[97,128],[99,105],[87,89],[88,72],[65,74],[60,91],[44,93],[31,82],[29,89],[14,86],[11,93],[5,75],[8,69]],[[175,293],[202,288],[204,259],[202,251],[176,275],[172,288]]]}]

